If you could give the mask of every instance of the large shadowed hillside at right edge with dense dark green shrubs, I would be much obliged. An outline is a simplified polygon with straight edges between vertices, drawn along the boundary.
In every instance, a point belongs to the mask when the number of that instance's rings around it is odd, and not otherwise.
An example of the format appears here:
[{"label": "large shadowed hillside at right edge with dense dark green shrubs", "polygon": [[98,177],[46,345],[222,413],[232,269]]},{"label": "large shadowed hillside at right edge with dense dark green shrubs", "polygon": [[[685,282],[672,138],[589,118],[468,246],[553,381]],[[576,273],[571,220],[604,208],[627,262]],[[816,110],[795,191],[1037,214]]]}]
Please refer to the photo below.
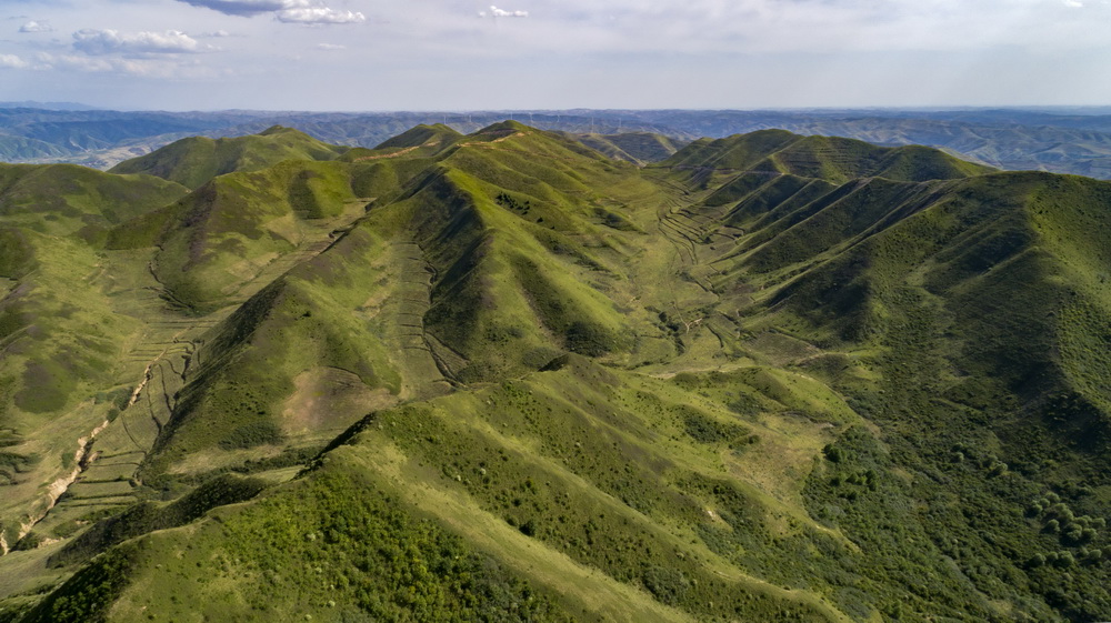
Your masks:
[{"label": "large shadowed hillside at right edge with dense dark green shrubs", "polygon": [[[1103,231],[1107,184],[1030,173],[928,184],[889,194],[869,219],[880,227],[847,230],[847,215],[864,214],[860,192],[810,204],[773,238],[753,231],[748,249],[742,239],[722,267],[768,288],[770,305],[750,308],[745,325],[848,352],[833,365],[833,386],[889,432],[899,463],[917,466],[913,498],[934,500],[922,513],[925,532],[958,562],[981,565],[967,572],[980,591],[1000,599],[994,579],[1005,577],[1072,617],[1097,615],[1109,595],[1101,554],[1091,552],[1103,551],[1105,535],[1039,534],[1052,518],[1027,508],[1047,491],[1083,513],[1105,508],[1100,474],[1111,418],[1097,389],[1107,379],[1103,356],[1091,340],[1109,318],[1094,287],[1108,263],[1092,233]],[[768,221],[752,223],[779,222]],[[847,372],[853,368],[859,374]],[[818,369],[830,373],[828,363]],[[829,481],[839,482],[843,475]],[[811,504],[843,495],[829,483],[810,484]],[[865,513],[892,513],[897,499]],[[845,520],[832,523],[874,530],[874,516]],[[952,550],[944,545],[952,534],[979,536]],[[1070,571],[1032,566],[1042,556],[1084,562]]]}]

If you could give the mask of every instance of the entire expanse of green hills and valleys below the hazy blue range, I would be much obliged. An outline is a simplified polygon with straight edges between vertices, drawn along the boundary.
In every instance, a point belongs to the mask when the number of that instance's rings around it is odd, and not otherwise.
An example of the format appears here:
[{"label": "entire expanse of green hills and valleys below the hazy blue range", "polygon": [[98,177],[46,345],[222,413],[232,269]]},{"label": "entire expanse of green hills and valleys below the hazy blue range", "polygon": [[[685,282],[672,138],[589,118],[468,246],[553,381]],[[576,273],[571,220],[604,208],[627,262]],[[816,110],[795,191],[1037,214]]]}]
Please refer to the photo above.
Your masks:
[{"label": "entire expanse of green hills and valleys below the hazy blue range", "polygon": [[0,621],[1108,617],[1111,183],[589,144],[0,212]]}]

